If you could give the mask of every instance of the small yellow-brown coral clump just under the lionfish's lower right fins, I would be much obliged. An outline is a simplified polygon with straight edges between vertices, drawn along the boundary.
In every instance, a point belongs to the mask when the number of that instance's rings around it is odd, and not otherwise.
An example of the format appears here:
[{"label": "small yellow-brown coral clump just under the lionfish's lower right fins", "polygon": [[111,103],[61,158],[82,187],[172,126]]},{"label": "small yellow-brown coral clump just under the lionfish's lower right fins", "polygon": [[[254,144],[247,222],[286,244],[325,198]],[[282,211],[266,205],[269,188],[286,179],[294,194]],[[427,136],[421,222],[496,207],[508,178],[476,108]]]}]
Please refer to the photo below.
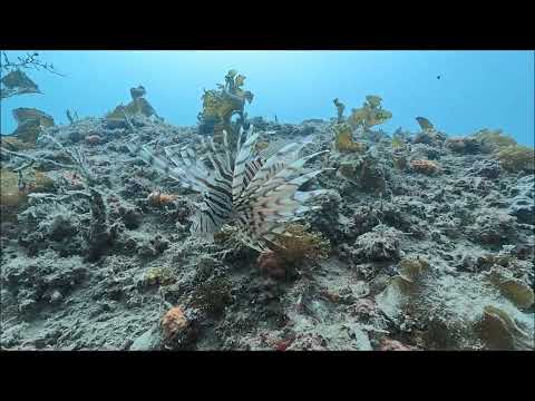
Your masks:
[{"label": "small yellow-brown coral clump just under the lionfish's lower right fins", "polygon": [[321,233],[309,233],[301,224],[290,224],[285,232],[278,236],[275,244],[283,251],[283,257],[288,262],[308,258],[325,258],[330,251],[329,239],[323,238]]}]

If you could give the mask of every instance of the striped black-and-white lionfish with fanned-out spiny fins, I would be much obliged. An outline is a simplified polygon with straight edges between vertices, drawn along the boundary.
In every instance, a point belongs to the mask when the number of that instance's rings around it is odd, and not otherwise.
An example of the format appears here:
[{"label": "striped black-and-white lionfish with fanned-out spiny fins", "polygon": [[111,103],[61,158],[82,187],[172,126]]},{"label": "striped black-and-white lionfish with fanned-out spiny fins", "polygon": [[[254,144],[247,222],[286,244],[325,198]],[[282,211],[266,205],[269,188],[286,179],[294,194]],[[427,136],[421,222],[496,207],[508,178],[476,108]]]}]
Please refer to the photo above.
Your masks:
[{"label": "striped black-and-white lionfish with fanned-out spiny fins", "polygon": [[155,155],[146,146],[132,148],[145,163],[174,178],[179,186],[203,195],[193,218],[191,232],[213,239],[224,224],[235,223],[239,238],[259,252],[270,248],[278,235],[286,235],[286,224],[302,218],[305,212],[319,206],[307,205],[311,199],[330,193],[329,189],[303,192],[299,188],[330,169],[308,172],[304,164],[328,153],[318,151],[299,157],[311,137],[300,143],[274,143],[256,151],[259,134],[253,126],[240,128],[237,140],[228,146],[226,130],[223,143],[202,138],[204,157],[189,146],[172,145]]}]

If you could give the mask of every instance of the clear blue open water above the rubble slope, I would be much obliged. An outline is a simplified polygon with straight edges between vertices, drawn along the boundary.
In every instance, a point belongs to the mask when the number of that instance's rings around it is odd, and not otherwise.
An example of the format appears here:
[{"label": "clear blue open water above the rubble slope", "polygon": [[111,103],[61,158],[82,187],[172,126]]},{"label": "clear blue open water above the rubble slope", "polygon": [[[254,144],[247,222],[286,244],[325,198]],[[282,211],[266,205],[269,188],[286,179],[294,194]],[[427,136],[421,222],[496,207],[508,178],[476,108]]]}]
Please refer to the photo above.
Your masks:
[{"label": "clear blue open water above the rubble slope", "polygon": [[[25,51],[7,51],[16,59]],[[16,128],[11,110],[36,107],[67,123],[66,110],[101,117],[143,85],[158,115],[194,125],[203,88],[230,69],[247,77],[255,97],[249,116],[300,123],[335,116],[338,97],[350,110],[366,95],[382,97],[393,117],[381,127],[416,131],[424,116],[448,135],[502,128],[534,145],[534,51],[41,51],[67,77],[27,71],[43,95],[1,101],[1,133]]]}]

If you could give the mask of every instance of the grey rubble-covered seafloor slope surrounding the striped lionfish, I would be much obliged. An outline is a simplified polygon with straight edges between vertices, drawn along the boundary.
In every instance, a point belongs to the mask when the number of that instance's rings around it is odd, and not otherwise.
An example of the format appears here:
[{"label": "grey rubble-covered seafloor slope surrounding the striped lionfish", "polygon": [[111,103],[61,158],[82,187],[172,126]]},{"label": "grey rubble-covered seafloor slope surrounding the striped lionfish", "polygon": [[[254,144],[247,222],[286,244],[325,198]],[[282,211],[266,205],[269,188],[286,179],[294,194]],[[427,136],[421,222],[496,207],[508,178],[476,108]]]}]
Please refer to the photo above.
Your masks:
[{"label": "grey rubble-covered seafloor slope surrounding the striped lionfish", "polygon": [[[133,110],[157,147],[204,135]],[[8,173],[20,157],[1,155],[2,349],[534,348],[535,177],[504,168],[503,148],[430,123],[396,140],[368,124],[348,151],[311,162],[335,170],[307,185],[339,195],[303,221],[322,257],[295,261],[259,257],[232,229],[191,236],[198,195],[136,159],[129,127],[109,120],[47,128],[82,149],[90,186],[46,140],[18,149],[35,159],[22,189]],[[251,120],[261,141],[312,135],[310,151],[332,148],[333,121]]]}]

